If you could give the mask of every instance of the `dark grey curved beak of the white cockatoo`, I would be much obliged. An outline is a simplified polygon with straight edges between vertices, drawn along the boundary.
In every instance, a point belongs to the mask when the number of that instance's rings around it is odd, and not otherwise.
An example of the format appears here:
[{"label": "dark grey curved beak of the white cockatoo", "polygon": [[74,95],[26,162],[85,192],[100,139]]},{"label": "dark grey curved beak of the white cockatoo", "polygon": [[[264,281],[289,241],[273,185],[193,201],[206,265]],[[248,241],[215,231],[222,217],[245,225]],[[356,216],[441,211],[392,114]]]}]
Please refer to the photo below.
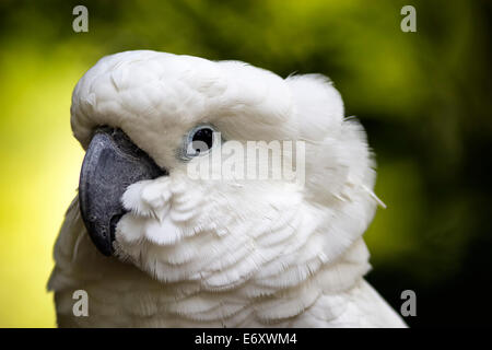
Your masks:
[{"label": "dark grey curved beak of the white cockatoo", "polygon": [[120,129],[96,130],[82,164],[79,201],[85,228],[101,253],[114,252],[116,224],[126,213],[121,197],[128,186],[163,175],[167,172]]}]

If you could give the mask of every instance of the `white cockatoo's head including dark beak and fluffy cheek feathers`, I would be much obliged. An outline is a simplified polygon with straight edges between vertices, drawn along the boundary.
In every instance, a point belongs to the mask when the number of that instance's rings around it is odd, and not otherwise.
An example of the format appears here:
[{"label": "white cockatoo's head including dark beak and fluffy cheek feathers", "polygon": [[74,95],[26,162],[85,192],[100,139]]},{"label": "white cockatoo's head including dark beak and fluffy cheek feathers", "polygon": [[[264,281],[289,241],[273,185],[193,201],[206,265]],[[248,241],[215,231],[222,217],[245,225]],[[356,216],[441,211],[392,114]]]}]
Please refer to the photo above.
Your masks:
[{"label": "white cockatoo's head including dark beak and fluffy cheek feathers", "polygon": [[[321,75],[120,52],[80,80],[71,122],[86,150],[80,206],[94,244],[162,282],[249,281],[250,293],[269,293],[339,258],[374,213],[364,131]],[[305,180],[190,176],[248,141],[302,142],[302,154],[282,155]]]}]

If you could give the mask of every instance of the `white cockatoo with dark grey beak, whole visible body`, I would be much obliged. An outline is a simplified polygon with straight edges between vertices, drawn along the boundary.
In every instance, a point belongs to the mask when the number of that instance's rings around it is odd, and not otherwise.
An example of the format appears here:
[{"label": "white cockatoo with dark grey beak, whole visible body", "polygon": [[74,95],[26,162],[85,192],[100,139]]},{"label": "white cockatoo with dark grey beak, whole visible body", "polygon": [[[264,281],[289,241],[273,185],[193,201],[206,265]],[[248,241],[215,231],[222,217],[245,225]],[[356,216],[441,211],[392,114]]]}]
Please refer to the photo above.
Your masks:
[{"label": "white cockatoo with dark grey beak, whole visible body", "polygon": [[[406,326],[363,278],[374,164],[327,78],[126,51],[79,81],[71,125],[86,154],[48,285],[59,326]],[[303,142],[304,182],[189,174],[215,143],[273,140]]]}]

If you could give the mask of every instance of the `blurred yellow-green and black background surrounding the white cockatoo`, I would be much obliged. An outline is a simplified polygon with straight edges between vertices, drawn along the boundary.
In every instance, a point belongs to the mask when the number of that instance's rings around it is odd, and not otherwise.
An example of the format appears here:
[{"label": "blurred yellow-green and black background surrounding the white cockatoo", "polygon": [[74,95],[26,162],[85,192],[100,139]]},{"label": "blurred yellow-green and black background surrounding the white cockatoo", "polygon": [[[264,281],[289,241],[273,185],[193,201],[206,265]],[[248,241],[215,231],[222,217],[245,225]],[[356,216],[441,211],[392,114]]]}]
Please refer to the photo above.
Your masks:
[{"label": "blurred yellow-green and black background surrounding the white cockatoo", "polygon": [[[89,9],[89,33],[72,9]],[[417,9],[417,33],[400,9]],[[490,1],[0,1],[0,326],[52,327],[46,281],[83,151],[70,96],[102,56],[155,49],[329,75],[377,155],[368,280],[411,326],[490,323]]]}]

